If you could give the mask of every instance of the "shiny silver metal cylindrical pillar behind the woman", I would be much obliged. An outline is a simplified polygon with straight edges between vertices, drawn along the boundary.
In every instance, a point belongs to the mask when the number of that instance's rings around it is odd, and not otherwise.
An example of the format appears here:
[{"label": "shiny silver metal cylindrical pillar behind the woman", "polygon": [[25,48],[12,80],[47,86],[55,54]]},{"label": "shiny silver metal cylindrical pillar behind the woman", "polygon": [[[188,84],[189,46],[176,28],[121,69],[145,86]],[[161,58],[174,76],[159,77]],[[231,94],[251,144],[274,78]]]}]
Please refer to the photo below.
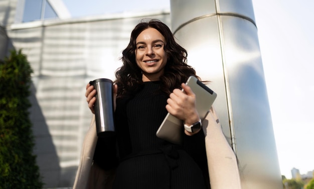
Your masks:
[{"label": "shiny silver metal cylindrical pillar behind the woman", "polygon": [[282,188],[251,0],[171,0],[171,19],[188,63],[218,93],[242,188]]}]

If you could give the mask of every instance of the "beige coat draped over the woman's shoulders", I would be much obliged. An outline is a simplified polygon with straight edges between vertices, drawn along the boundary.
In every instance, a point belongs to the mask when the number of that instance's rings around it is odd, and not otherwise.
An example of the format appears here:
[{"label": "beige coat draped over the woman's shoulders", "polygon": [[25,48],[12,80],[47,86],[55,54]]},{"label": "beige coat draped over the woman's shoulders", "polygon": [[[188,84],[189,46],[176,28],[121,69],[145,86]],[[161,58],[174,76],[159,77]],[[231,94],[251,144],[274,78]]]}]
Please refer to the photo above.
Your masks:
[{"label": "beige coat draped over the woman's shoulders", "polygon": [[[236,156],[227,142],[213,108],[202,122],[212,189],[241,188]],[[104,171],[93,164],[97,143],[95,116],[85,136],[73,189],[111,188],[114,170]]]}]

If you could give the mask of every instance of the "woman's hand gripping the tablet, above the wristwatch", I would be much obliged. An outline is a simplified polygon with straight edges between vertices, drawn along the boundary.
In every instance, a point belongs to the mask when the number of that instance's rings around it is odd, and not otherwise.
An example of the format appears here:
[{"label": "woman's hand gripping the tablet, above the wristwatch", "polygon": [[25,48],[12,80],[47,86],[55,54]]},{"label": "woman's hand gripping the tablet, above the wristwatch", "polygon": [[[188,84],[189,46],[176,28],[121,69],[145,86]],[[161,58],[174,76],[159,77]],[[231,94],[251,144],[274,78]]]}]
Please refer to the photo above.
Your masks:
[{"label": "woman's hand gripping the tablet, above the wristwatch", "polygon": [[[176,118],[183,120],[187,125],[193,125],[200,120],[199,114],[196,110],[196,97],[191,87],[185,83],[181,84],[184,92],[178,88],[170,94],[170,98],[167,100],[167,111]],[[197,132],[196,132],[197,133]],[[195,133],[186,134],[193,135]]]}]

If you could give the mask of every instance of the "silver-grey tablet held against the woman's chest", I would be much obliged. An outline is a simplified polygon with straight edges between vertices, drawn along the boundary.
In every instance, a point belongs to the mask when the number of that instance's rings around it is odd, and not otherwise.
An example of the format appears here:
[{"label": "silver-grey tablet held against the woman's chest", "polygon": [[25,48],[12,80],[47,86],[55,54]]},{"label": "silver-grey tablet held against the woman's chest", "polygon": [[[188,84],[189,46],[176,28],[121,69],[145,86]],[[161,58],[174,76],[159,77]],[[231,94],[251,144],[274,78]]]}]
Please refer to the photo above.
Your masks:
[{"label": "silver-grey tablet held against the woman's chest", "polygon": [[[190,76],[186,84],[190,86],[195,93],[196,110],[203,121],[213,105],[217,94],[195,76]],[[156,132],[156,136],[174,144],[181,144],[183,129],[183,121],[168,113]]]}]

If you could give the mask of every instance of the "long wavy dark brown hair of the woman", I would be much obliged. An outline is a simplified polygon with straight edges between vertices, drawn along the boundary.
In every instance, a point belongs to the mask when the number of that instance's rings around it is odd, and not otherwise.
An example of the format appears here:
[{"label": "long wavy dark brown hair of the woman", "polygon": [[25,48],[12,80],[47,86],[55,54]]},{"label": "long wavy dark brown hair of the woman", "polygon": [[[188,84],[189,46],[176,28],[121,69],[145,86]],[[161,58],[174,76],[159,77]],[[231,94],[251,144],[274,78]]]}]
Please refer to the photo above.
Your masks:
[{"label": "long wavy dark brown hair of the woman", "polygon": [[[118,85],[118,97],[135,93],[142,85],[142,72],[135,61],[136,38],[145,29],[154,28],[165,37],[164,50],[168,55],[164,74],[160,77],[161,91],[168,95],[175,88],[181,88],[181,83],[186,82],[189,76],[196,75],[193,67],[187,64],[188,53],[174,38],[169,27],[159,20],[142,20],[135,26],[131,33],[128,46],[122,51],[123,65],[115,72]],[[198,77],[199,78],[199,77]]]}]

